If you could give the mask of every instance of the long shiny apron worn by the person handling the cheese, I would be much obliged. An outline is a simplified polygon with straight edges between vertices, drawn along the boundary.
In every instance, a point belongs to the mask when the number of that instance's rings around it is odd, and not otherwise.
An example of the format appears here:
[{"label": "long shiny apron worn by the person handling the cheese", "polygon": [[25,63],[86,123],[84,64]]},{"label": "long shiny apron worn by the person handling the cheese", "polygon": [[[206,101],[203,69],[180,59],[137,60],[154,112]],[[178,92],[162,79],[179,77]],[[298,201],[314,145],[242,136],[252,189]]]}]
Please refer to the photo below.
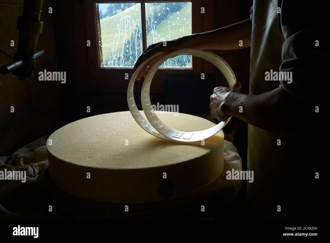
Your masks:
[{"label": "long shiny apron worn by the person handling the cheese", "polygon": [[[249,94],[261,94],[279,87],[279,81],[265,81],[265,72],[279,71],[284,37],[278,24],[278,0],[254,0]],[[302,121],[303,122],[303,121]],[[278,140],[281,145],[278,145]],[[254,182],[247,182],[248,202],[257,217],[286,219],[304,214],[306,177],[311,163],[310,137],[269,132],[248,125],[248,170]],[[315,179],[314,179],[315,180]],[[305,183],[306,181],[306,183]],[[305,193],[305,195],[304,195]],[[281,212],[278,212],[278,206]]]}]

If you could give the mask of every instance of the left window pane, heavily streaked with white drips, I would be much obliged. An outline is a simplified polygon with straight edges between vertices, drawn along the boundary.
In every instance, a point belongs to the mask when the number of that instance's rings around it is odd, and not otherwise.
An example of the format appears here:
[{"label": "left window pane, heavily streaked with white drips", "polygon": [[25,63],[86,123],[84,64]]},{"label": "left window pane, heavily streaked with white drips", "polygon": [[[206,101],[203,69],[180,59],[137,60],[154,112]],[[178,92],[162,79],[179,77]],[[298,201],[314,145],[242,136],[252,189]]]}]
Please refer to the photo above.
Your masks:
[{"label": "left window pane, heavily streaked with white drips", "polygon": [[99,3],[103,67],[133,67],[143,52],[140,3]]}]

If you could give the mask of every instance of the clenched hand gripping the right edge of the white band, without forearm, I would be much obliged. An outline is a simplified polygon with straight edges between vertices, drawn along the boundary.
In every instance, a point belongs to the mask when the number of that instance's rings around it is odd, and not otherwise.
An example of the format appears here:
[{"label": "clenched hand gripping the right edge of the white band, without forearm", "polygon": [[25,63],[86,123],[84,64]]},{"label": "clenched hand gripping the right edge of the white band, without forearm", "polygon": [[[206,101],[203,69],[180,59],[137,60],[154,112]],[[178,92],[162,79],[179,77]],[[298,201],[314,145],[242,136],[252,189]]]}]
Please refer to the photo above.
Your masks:
[{"label": "clenched hand gripping the right edge of the white band, without forearm", "polygon": [[223,107],[231,101],[231,92],[239,93],[241,91],[242,85],[237,82],[233,88],[228,87],[215,87],[213,90],[213,95],[210,96],[210,108],[211,113],[214,118],[219,121],[226,121],[231,115],[225,114]]}]

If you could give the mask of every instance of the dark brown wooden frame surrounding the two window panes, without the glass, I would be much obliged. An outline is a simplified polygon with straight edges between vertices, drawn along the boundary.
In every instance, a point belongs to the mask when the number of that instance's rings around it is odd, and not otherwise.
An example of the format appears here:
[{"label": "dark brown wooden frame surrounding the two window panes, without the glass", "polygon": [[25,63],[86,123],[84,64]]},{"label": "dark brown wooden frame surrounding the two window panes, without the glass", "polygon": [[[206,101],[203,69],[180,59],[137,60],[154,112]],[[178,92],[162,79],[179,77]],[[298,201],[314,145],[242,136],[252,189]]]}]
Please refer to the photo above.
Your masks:
[{"label": "dark brown wooden frame surrounding the two window panes, without the glass", "polygon": [[[96,11],[97,3],[141,3],[142,31],[146,30],[144,4],[148,2],[191,2],[191,32],[201,33],[207,31],[203,29],[203,23],[209,24],[209,28],[213,29],[214,15],[202,14],[203,0],[143,0],[143,1],[122,1],[122,0],[83,0],[85,11],[86,38],[90,40],[91,45],[87,48],[88,52],[88,67],[90,78],[95,80],[96,88],[103,88],[106,92],[125,93],[127,92],[129,80],[125,80],[125,74],[129,77],[133,67],[101,67],[100,45],[99,45],[99,16]],[[213,1],[212,1],[213,2]],[[144,16],[144,17],[143,17]],[[146,34],[143,36],[143,50],[147,48]],[[151,93],[163,93],[164,81],[166,74],[182,74],[182,75],[200,75],[202,72],[213,72],[213,67],[209,68],[203,65],[203,60],[197,57],[192,57],[192,67],[190,68],[159,68],[153,77],[153,85],[150,89]],[[140,85],[141,83],[141,85]],[[135,88],[139,92],[142,82],[136,82]],[[91,87],[91,85],[88,85]]]}]

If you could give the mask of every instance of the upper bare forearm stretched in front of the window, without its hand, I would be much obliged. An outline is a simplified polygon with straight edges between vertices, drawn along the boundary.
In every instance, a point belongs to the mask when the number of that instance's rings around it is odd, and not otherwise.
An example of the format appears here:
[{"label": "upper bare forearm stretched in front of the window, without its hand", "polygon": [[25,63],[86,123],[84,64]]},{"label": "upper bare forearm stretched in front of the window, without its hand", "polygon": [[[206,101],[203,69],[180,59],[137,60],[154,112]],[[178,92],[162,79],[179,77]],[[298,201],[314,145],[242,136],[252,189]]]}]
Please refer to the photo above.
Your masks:
[{"label": "upper bare forearm stretched in front of the window, without its hand", "polygon": [[[252,23],[250,19],[212,31],[182,37],[188,48],[205,50],[235,50],[251,46]],[[240,46],[240,41],[243,41]]]}]

